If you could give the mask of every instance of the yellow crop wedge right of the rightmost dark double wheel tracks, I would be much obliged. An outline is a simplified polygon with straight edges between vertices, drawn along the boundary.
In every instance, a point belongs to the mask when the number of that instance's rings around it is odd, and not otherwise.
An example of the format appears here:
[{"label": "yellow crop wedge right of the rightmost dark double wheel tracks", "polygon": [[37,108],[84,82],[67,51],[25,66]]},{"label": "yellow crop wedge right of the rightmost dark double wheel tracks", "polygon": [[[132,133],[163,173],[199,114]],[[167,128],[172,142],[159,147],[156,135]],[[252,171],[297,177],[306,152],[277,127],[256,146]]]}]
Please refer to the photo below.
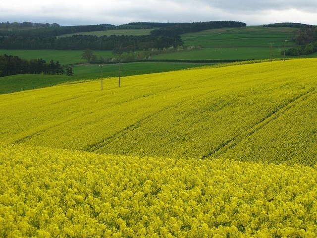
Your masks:
[{"label": "yellow crop wedge right of the rightmost dark double wheel tracks", "polygon": [[241,140],[236,147],[228,148],[221,156],[240,160],[253,158],[253,161],[315,165],[317,163],[316,108],[315,90],[303,94],[266,119],[260,130],[248,131],[250,133],[248,136],[240,137]]}]

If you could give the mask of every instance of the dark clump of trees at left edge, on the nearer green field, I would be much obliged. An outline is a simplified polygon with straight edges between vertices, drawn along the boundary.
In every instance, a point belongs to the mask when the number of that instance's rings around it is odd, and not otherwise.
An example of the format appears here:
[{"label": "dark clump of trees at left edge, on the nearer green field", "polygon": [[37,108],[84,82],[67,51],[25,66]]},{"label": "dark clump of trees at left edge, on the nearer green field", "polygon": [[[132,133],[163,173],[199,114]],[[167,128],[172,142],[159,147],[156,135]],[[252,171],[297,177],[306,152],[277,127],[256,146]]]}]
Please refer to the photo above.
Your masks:
[{"label": "dark clump of trees at left edge, on the nearer green field", "polygon": [[73,75],[70,66],[62,66],[58,61],[51,60],[47,63],[43,59],[24,60],[17,56],[0,56],[0,77],[15,74],[66,74]]}]

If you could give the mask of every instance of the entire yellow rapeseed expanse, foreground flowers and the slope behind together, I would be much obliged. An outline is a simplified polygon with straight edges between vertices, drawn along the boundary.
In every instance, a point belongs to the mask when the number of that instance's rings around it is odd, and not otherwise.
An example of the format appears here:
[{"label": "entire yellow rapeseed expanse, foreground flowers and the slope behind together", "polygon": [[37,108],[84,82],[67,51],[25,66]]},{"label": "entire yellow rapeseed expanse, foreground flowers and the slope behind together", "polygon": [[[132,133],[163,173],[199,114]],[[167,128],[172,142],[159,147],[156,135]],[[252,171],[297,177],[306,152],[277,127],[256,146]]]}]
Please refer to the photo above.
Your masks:
[{"label": "entire yellow rapeseed expanse, foreground flowers and the slope behind together", "polygon": [[317,237],[316,65],[0,95],[0,237]]}]

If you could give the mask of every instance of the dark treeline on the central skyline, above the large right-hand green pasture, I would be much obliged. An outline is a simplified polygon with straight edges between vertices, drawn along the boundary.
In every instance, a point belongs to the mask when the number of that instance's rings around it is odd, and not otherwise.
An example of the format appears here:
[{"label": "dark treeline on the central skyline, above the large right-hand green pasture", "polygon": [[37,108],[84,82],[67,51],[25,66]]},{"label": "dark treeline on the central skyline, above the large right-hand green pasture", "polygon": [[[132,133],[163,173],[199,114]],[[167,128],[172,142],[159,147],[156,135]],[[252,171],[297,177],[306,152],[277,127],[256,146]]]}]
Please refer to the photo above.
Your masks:
[{"label": "dark treeline on the central skyline, above the large right-hand green pasture", "polygon": [[176,36],[184,33],[199,32],[214,28],[246,27],[246,23],[239,21],[208,21],[193,23],[175,23],[151,31],[153,36]]}]

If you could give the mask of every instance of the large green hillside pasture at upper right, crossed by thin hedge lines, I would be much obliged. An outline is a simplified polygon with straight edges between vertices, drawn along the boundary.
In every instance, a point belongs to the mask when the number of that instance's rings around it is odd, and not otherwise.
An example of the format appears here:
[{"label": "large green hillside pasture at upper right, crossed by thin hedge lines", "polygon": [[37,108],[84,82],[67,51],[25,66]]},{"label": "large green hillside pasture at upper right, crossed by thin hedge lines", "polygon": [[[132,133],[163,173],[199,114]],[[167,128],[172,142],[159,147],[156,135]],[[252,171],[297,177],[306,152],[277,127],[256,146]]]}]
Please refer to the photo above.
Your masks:
[{"label": "large green hillside pasture at upper right, crossed by thin hedge lines", "polygon": [[158,55],[152,57],[152,59],[263,60],[269,59],[271,54],[272,58],[281,58],[285,49],[295,46],[295,42],[291,39],[296,29],[291,27],[247,26],[187,33],[181,35],[184,46],[200,46],[202,49]]}]

